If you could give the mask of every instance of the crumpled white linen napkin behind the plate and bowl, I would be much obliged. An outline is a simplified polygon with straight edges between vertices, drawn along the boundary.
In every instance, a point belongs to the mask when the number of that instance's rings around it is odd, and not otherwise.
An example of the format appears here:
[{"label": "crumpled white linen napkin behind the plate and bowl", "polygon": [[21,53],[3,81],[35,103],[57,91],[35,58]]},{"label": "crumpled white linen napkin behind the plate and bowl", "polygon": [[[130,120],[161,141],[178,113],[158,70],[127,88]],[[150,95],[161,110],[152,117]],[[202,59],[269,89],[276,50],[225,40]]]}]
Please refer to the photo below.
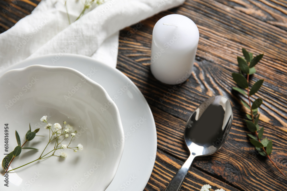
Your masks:
[{"label": "crumpled white linen napkin behind the plate and bowl", "polygon": [[[84,0],[42,0],[32,13],[0,34],[0,70],[44,54],[90,56],[116,67],[119,30],[176,7],[184,0],[109,0],[92,5],[75,21]],[[95,4],[95,3],[94,3]],[[141,24],[139,23],[139,26]]]}]

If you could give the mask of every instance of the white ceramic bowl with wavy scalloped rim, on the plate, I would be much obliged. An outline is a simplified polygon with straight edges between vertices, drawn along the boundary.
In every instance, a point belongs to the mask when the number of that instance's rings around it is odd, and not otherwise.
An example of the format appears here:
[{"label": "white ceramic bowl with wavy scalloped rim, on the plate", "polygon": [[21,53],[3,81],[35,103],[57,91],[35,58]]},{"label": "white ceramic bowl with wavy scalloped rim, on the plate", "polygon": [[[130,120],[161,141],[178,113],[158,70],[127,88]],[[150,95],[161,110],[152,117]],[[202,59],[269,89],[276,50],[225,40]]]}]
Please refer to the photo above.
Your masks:
[{"label": "white ceramic bowl with wavy scalloped rim, on the plate", "polygon": [[[10,70],[0,78],[0,85],[0,123],[2,126],[9,123],[9,152],[17,146],[15,130],[24,143],[29,123],[32,131],[40,128],[37,135],[45,136],[26,143],[24,147],[36,147],[39,151],[22,149],[12,168],[40,156],[49,140],[49,130],[40,122],[44,115],[48,116],[48,123],[67,121],[78,131],[71,145],[84,146],[76,153],[67,149],[65,159],[52,156],[9,173],[11,190],[103,191],[107,188],[121,160],[124,133],[119,111],[102,86],[77,70],[42,65]],[[1,135],[1,151],[3,139]],[[63,144],[69,140],[70,137]]]}]

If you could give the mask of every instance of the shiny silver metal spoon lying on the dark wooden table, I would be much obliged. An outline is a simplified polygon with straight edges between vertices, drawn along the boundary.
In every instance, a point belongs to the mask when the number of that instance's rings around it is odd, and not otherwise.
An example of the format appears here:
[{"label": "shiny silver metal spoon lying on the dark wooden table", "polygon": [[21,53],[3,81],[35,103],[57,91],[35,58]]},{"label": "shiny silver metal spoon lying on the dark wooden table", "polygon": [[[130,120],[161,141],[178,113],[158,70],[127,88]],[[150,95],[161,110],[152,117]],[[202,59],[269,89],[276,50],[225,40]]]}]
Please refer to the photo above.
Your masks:
[{"label": "shiny silver metal spoon lying on the dark wooden table", "polygon": [[193,159],[211,155],[226,141],[232,125],[233,113],[229,100],[215,96],[205,100],[190,116],[184,131],[190,155],[165,191],[179,191]]}]

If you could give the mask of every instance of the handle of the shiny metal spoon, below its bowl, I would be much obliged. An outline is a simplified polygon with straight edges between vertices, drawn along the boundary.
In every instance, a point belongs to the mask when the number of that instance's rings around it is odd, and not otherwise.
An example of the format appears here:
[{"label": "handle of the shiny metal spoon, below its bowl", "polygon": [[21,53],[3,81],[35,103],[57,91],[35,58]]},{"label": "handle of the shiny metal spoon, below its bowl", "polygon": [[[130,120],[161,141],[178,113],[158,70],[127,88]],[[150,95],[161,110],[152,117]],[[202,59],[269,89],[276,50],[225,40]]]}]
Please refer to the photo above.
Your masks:
[{"label": "handle of the shiny metal spoon, below its bowl", "polygon": [[191,163],[195,156],[190,155],[188,159],[185,161],[183,166],[177,171],[177,174],[174,175],[168,186],[164,191],[179,191],[181,188],[181,185],[183,184],[183,181],[185,179],[185,176],[187,175],[187,172],[191,166]]}]

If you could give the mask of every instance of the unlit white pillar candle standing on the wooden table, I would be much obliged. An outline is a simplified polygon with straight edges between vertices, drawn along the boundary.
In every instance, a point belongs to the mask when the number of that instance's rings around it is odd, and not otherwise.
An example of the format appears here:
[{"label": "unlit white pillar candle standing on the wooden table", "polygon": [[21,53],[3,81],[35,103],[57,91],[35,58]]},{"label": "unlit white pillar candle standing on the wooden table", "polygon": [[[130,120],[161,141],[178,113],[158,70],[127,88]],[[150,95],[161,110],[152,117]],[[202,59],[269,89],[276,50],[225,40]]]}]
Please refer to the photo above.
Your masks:
[{"label": "unlit white pillar candle standing on the wooden table", "polygon": [[151,72],[166,84],[179,84],[192,72],[199,41],[195,23],[183,15],[167,15],[152,31]]}]

